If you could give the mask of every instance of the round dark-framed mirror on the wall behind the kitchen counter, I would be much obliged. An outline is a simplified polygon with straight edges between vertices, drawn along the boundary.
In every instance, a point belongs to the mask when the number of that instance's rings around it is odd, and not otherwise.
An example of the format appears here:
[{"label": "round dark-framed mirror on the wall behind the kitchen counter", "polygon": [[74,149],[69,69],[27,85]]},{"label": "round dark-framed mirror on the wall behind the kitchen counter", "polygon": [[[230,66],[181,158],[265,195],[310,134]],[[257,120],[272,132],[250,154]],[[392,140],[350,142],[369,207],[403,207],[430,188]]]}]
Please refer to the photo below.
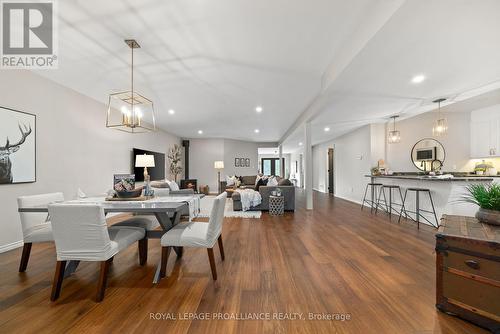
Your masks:
[{"label": "round dark-framed mirror on the wall behind the kitchen counter", "polygon": [[436,171],[443,167],[446,152],[443,144],[436,139],[419,140],[411,150],[411,161],[415,167],[424,172]]}]

